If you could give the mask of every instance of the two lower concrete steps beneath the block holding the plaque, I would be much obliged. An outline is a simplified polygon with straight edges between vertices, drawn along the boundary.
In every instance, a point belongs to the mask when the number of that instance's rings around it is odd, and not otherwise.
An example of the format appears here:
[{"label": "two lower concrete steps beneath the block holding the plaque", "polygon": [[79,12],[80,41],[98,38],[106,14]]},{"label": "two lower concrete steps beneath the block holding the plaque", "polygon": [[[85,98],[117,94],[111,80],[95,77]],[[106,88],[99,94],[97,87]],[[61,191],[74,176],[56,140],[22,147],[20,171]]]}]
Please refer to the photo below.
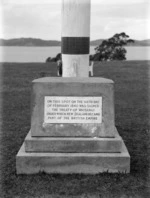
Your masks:
[{"label": "two lower concrete steps beneath the block holding the plaque", "polygon": [[16,156],[16,168],[17,174],[129,173],[130,156],[117,132],[115,138],[57,139],[31,137],[29,132]]}]

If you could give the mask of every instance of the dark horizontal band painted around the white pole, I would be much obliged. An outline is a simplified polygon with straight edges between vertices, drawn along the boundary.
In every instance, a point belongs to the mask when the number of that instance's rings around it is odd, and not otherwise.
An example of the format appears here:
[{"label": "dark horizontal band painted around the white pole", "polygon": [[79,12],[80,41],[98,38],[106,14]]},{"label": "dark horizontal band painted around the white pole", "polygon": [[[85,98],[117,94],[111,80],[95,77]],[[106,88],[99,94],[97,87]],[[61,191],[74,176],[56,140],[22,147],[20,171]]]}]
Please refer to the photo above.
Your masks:
[{"label": "dark horizontal band painted around the white pole", "polygon": [[89,54],[89,37],[62,37],[62,54]]}]

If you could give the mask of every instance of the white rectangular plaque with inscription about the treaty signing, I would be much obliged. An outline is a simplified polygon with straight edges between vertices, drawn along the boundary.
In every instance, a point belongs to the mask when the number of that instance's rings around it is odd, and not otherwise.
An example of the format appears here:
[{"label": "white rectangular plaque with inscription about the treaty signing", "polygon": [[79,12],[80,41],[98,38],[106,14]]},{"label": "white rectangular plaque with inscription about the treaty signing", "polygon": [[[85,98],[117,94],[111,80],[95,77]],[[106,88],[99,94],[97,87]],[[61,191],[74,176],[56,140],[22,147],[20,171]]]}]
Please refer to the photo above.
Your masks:
[{"label": "white rectangular plaque with inscription about the treaty signing", "polygon": [[44,123],[102,123],[102,97],[45,96]]}]

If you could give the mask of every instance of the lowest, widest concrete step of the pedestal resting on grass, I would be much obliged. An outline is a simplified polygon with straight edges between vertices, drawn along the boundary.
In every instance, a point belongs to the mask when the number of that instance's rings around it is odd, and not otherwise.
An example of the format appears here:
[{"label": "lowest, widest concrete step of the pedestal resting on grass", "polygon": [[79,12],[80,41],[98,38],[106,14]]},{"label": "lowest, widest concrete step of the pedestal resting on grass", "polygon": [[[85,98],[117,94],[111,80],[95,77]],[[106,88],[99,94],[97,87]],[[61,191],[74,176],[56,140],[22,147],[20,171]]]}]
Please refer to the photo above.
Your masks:
[{"label": "lowest, widest concrete step of the pedestal resting on grass", "polygon": [[121,153],[27,153],[22,145],[16,156],[17,174],[130,172],[130,156]]}]

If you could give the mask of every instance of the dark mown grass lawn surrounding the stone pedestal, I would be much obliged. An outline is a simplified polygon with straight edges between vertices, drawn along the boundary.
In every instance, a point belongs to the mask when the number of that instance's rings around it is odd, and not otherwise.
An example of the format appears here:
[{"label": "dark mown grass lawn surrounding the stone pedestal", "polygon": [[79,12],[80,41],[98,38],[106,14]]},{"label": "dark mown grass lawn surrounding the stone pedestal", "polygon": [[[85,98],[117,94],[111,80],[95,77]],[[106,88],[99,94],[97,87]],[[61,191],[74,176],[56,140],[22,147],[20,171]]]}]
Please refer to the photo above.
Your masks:
[{"label": "dark mown grass lawn surrounding the stone pedestal", "polygon": [[33,79],[56,76],[55,63],[1,63],[0,197],[150,197],[150,62],[96,63],[115,82],[115,123],[131,155],[130,174],[16,175],[15,156],[30,129]]}]

